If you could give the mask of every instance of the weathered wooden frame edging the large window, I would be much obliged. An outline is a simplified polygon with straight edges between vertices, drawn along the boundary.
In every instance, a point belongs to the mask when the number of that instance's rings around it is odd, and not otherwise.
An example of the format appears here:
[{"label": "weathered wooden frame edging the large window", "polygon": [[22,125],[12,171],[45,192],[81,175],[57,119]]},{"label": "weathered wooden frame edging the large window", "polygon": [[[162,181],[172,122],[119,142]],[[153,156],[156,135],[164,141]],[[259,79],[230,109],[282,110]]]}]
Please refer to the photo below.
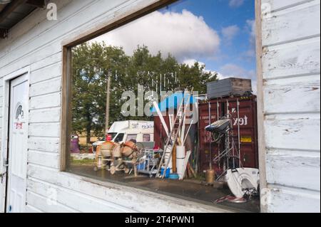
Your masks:
[{"label": "weathered wooden frame edging the large window", "polygon": [[[116,28],[126,25],[131,21],[140,19],[147,14],[157,11],[165,6],[175,3],[178,0],[160,0],[143,9],[129,11],[126,15],[118,16],[115,20],[108,23],[102,28],[96,28],[93,31],[83,33],[71,41],[62,44],[63,53],[63,72],[62,72],[62,92],[61,92],[61,164],[60,170],[66,171],[69,160],[69,148],[71,134],[71,48],[93,38],[113,31]],[[267,187],[266,170],[265,170],[265,127],[264,127],[264,94],[263,94],[263,46],[262,46],[262,0],[255,0],[255,27],[256,27],[256,56],[257,56],[257,78],[258,78],[258,152],[260,162],[260,188]],[[266,212],[267,207],[261,205],[261,211]]]}]

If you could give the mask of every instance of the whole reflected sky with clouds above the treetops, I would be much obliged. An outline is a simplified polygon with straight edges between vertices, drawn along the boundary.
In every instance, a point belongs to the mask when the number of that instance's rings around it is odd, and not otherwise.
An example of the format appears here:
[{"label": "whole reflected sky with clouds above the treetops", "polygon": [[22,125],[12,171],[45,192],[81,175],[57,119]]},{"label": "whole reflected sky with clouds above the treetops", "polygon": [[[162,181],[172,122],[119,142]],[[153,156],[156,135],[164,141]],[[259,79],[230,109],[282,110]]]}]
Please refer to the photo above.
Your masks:
[{"label": "whole reflected sky with clouds above the treetops", "polygon": [[181,63],[198,61],[221,79],[252,79],[255,92],[254,19],[254,0],[181,0],[95,41],[122,46],[128,55],[146,45]]}]

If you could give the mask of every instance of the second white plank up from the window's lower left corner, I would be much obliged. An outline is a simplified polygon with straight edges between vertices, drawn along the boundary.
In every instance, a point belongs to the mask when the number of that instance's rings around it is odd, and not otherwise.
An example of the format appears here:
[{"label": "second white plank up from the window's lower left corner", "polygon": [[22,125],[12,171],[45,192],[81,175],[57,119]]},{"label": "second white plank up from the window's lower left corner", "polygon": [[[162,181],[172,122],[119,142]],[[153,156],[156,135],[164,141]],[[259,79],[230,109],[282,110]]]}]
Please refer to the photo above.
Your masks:
[{"label": "second white plank up from the window's lower left corner", "polygon": [[28,148],[36,151],[58,153],[59,138],[29,137]]}]

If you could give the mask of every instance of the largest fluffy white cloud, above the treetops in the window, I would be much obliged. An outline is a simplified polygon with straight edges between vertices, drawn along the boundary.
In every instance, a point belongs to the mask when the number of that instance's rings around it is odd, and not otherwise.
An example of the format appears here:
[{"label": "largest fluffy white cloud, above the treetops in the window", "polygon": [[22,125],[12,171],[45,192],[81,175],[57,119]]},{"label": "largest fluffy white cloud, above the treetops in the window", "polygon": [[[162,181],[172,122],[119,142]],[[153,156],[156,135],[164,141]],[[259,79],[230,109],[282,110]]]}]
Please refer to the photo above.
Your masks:
[{"label": "largest fluffy white cloud, above the treetops in the window", "polygon": [[138,45],[148,46],[151,53],[173,54],[178,60],[212,57],[220,46],[218,33],[203,17],[190,11],[181,13],[155,11],[121,28],[104,34],[94,41],[122,46],[131,55]]}]

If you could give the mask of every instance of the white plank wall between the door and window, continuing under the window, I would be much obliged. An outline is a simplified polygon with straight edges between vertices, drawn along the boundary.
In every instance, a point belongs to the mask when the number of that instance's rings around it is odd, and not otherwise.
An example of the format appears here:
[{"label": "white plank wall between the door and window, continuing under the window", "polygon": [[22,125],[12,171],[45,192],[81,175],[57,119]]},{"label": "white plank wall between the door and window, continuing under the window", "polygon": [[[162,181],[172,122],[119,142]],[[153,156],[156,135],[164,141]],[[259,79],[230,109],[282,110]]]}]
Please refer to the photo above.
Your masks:
[{"label": "white plank wall between the door and window, continuing under the window", "polygon": [[[156,1],[56,0],[58,21],[46,20],[47,10],[37,9],[0,41],[0,105],[3,77],[30,68],[27,212],[225,212],[59,171],[62,43]],[[53,204],[49,199],[55,195],[58,200]]]}]

